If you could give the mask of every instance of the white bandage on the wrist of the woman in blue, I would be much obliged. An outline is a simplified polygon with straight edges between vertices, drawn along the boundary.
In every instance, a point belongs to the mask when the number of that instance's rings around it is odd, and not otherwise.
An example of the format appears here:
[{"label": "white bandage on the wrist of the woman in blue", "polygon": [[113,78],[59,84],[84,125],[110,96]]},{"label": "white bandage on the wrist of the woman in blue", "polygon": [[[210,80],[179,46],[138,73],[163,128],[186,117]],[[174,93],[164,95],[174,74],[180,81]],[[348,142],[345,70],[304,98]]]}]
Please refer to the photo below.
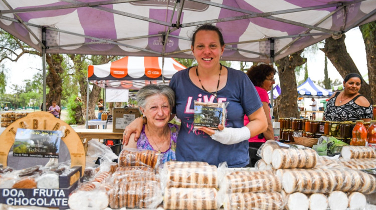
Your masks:
[{"label": "white bandage on the wrist of the woman in blue", "polygon": [[251,137],[251,131],[248,127],[241,128],[225,127],[223,130],[216,130],[212,139],[223,144],[234,144],[247,140]]}]

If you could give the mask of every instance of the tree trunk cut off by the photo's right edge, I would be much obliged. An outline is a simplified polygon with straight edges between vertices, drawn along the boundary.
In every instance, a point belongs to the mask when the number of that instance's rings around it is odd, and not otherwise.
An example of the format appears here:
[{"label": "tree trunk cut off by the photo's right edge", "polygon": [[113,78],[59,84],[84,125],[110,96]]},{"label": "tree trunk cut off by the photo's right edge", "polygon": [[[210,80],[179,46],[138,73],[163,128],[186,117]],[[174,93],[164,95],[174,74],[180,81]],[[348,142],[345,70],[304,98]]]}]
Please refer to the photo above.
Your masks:
[{"label": "tree trunk cut off by the photo's right edge", "polygon": [[[370,97],[367,98],[371,104],[376,104],[376,21],[359,26],[363,35],[365,53],[367,56],[368,84]],[[362,85],[361,89],[364,86]],[[365,88],[364,88],[365,89]]]}]

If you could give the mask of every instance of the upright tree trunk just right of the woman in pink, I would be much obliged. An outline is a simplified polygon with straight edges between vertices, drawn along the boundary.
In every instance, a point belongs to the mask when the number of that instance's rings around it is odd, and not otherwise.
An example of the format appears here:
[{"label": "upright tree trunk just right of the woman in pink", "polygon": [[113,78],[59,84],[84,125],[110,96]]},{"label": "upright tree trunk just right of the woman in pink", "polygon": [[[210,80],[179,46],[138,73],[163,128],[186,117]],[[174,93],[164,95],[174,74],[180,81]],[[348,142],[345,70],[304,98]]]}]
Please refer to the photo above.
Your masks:
[{"label": "upright tree trunk just right of the woman in pink", "polygon": [[274,106],[274,117],[297,117],[298,111],[298,92],[295,77],[295,68],[306,62],[306,59],[300,54],[303,50],[297,51],[289,56],[277,60],[278,76],[281,83],[281,94],[277,97]]}]

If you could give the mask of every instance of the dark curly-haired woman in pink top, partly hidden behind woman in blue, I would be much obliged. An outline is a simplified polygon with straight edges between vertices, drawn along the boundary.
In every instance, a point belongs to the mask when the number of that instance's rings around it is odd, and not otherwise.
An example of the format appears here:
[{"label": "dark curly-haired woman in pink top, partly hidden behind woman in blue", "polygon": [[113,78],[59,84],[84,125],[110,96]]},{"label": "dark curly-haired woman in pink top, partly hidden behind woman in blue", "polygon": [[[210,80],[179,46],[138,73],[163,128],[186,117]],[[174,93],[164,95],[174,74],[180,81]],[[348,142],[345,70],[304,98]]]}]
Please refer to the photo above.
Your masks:
[{"label": "dark curly-haired woman in pink top, partly hidden behind woman in blue", "polygon": [[[277,70],[272,65],[260,63],[253,65],[248,71],[247,75],[255,85],[259,93],[263,109],[268,120],[268,129],[249,139],[249,146],[259,148],[266,140],[274,139],[273,125],[270,116],[269,95],[268,91],[272,89],[272,84],[275,83],[274,75]],[[244,124],[248,123],[248,117],[244,117]]]}]

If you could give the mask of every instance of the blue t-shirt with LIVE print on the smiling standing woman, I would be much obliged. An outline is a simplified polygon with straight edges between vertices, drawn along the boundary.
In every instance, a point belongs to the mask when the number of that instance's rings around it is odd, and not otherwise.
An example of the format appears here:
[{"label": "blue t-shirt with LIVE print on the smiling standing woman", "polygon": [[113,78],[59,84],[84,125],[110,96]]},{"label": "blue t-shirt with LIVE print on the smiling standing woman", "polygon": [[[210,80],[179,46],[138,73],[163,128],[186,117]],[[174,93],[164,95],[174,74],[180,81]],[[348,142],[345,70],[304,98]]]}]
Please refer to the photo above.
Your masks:
[{"label": "blue t-shirt with LIVE print on the smiling standing woman", "polygon": [[233,68],[228,69],[226,86],[218,90],[218,101],[213,94],[196,86],[189,77],[189,69],[176,72],[169,83],[175,91],[176,105],[172,112],[181,120],[176,142],[176,160],[205,161],[217,165],[226,161],[229,167],[243,167],[249,163],[248,139],[236,144],[222,144],[208,134],[194,130],[194,101],[229,102],[225,126],[243,127],[244,114],[250,115],[262,103],[248,76]]}]

